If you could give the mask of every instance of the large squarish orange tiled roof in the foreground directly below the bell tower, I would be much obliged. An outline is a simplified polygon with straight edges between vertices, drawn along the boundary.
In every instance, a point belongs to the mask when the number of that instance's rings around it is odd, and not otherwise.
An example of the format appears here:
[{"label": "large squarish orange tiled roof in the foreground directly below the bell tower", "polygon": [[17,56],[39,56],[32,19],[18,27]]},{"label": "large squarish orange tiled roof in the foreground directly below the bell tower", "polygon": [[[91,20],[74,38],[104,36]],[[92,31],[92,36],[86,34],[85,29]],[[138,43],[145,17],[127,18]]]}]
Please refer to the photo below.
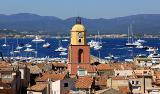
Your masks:
[{"label": "large squarish orange tiled roof in the foreground directly below the bell tower", "polygon": [[76,88],[91,88],[93,79],[88,76],[80,77],[75,83]]}]

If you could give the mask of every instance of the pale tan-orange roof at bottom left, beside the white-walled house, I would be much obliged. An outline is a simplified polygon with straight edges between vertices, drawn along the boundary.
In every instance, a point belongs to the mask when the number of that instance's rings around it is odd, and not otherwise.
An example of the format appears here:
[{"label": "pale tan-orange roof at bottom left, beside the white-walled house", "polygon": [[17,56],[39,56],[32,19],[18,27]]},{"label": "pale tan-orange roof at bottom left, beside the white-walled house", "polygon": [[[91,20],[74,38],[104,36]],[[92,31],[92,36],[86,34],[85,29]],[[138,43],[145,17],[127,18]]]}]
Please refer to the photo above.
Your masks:
[{"label": "pale tan-orange roof at bottom left, beside the white-walled house", "polygon": [[33,85],[31,87],[28,87],[28,91],[43,91],[47,85],[45,83],[36,83],[36,85]]}]

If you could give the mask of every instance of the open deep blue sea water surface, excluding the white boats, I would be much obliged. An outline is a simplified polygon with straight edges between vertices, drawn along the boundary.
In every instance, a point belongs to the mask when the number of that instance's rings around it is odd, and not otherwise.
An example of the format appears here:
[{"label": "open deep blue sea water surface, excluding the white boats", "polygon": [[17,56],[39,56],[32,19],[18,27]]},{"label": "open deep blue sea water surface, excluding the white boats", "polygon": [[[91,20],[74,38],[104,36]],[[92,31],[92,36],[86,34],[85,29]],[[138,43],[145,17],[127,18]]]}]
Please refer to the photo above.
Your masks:
[{"label": "open deep blue sea water surface, excluding the white boats", "polygon": [[[67,57],[67,56],[60,56],[59,53],[60,52],[54,52],[54,50],[56,48],[58,48],[58,44],[59,44],[59,40],[55,39],[55,38],[47,38],[45,39],[47,42],[49,42],[51,44],[50,48],[43,48],[42,45],[44,43],[38,43],[36,46],[36,43],[32,42],[32,39],[30,38],[19,38],[19,44],[20,45],[24,45],[27,43],[32,44],[32,48],[37,49],[37,57]],[[90,41],[91,39],[88,39],[88,41]],[[160,49],[160,39],[158,38],[146,38],[144,39],[145,42],[144,46],[151,46],[151,47],[158,47]],[[104,38],[102,39],[102,49],[100,49],[99,51],[95,51],[94,49],[91,48],[91,54],[97,57],[101,57],[101,58],[105,58],[106,56],[109,56],[109,54],[113,54],[116,57],[119,57],[119,60],[124,60],[124,59],[128,59],[128,58],[133,58],[138,54],[146,54],[148,55],[149,52],[145,51],[144,49],[137,49],[137,48],[128,48],[125,46],[125,43],[127,42],[127,39],[125,38]],[[12,49],[14,50],[17,46],[17,39],[16,38],[10,38],[7,39],[7,43],[10,45],[8,47],[3,47],[0,46],[0,51],[3,53],[3,56],[11,56],[10,52],[12,51]],[[68,42],[63,42],[62,41],[62,46],[63,47],[68,47],[69,45],[69,41]],[[4,39],[0,39],[0,45],[4,44]],[[21,49],[21,53],[17,53],[14,54],[15,56],[35,56],[35,53],[33,52],[24,52],[24,49]],[[160,50],[158,51],[160,53]]]}]

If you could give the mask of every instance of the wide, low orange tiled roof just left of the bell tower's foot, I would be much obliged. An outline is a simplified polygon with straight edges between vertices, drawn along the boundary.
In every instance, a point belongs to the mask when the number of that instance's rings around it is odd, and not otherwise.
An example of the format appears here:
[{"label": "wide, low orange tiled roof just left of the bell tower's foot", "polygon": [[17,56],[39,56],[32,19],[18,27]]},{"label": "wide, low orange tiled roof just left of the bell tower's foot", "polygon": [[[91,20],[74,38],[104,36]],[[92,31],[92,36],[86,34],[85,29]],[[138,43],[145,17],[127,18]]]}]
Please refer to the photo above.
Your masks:
[{"label": "wide, low orange tiled roof just left of the bell tower's foot", "polygon": [[37,81],[47,81],[48,79],[51,79],[52,81],[63,80],[65,76],[66,74],[44,73],[42,77],[37,78]]}]

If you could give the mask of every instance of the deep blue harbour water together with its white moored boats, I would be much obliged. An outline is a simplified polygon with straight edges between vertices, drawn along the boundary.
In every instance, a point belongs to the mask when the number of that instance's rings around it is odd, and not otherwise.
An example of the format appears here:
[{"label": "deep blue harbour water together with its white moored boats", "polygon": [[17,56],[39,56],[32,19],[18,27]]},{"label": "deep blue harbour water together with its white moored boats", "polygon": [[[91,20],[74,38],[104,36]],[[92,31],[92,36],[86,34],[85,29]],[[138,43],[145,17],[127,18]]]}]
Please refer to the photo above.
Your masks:
[{"label": "deep blue harbour water together with its white moored boats", "polygon": [[[3,46],[7,41],[8,46]],[[17,43],[18,40],[18,43]],[[1,38],[0,51],[5,58],[14,58],[20,61],[28,61],[30,59],[43,58],[42,60],[58,60],[63,58],[67,62],[67,47],[70,43],[69,38],[44,38],[45,41],[34,42],[32,38]],[[137,39],[138,40],[138,39]],[[143,38],[145,42],[144,47],[157,48],[157,53],[160,51],[159,38]],[[89,38],[88,43],[96,41],[95,38]],[[117,42],[118,41],[118,42]],[[111,55],[117,57],[115,61],[125,61],[125,59],[134,59],[136,56],[143,54],[149,56],[154,50],[148,51],[149,48],[130,47],[125,44],[128,42],[127,38],[102,38],[101,48],[94,49],[91,47],[91,54],[100,59],[110,59]],[[44,47],[44,44],[49,43],[49,47]],[[20,48],[17,49],[17,46]],[[93,45],[92,45],[93,46]],[[55,51],[59,47],[64,47],[63,51]],[[28,48],[28,49],[27,49]],[[63,53],[62,53],[63,52]],[[65,52],[65,53],[64,53]],[[127,53],[127,54],[126,54]]]}]

